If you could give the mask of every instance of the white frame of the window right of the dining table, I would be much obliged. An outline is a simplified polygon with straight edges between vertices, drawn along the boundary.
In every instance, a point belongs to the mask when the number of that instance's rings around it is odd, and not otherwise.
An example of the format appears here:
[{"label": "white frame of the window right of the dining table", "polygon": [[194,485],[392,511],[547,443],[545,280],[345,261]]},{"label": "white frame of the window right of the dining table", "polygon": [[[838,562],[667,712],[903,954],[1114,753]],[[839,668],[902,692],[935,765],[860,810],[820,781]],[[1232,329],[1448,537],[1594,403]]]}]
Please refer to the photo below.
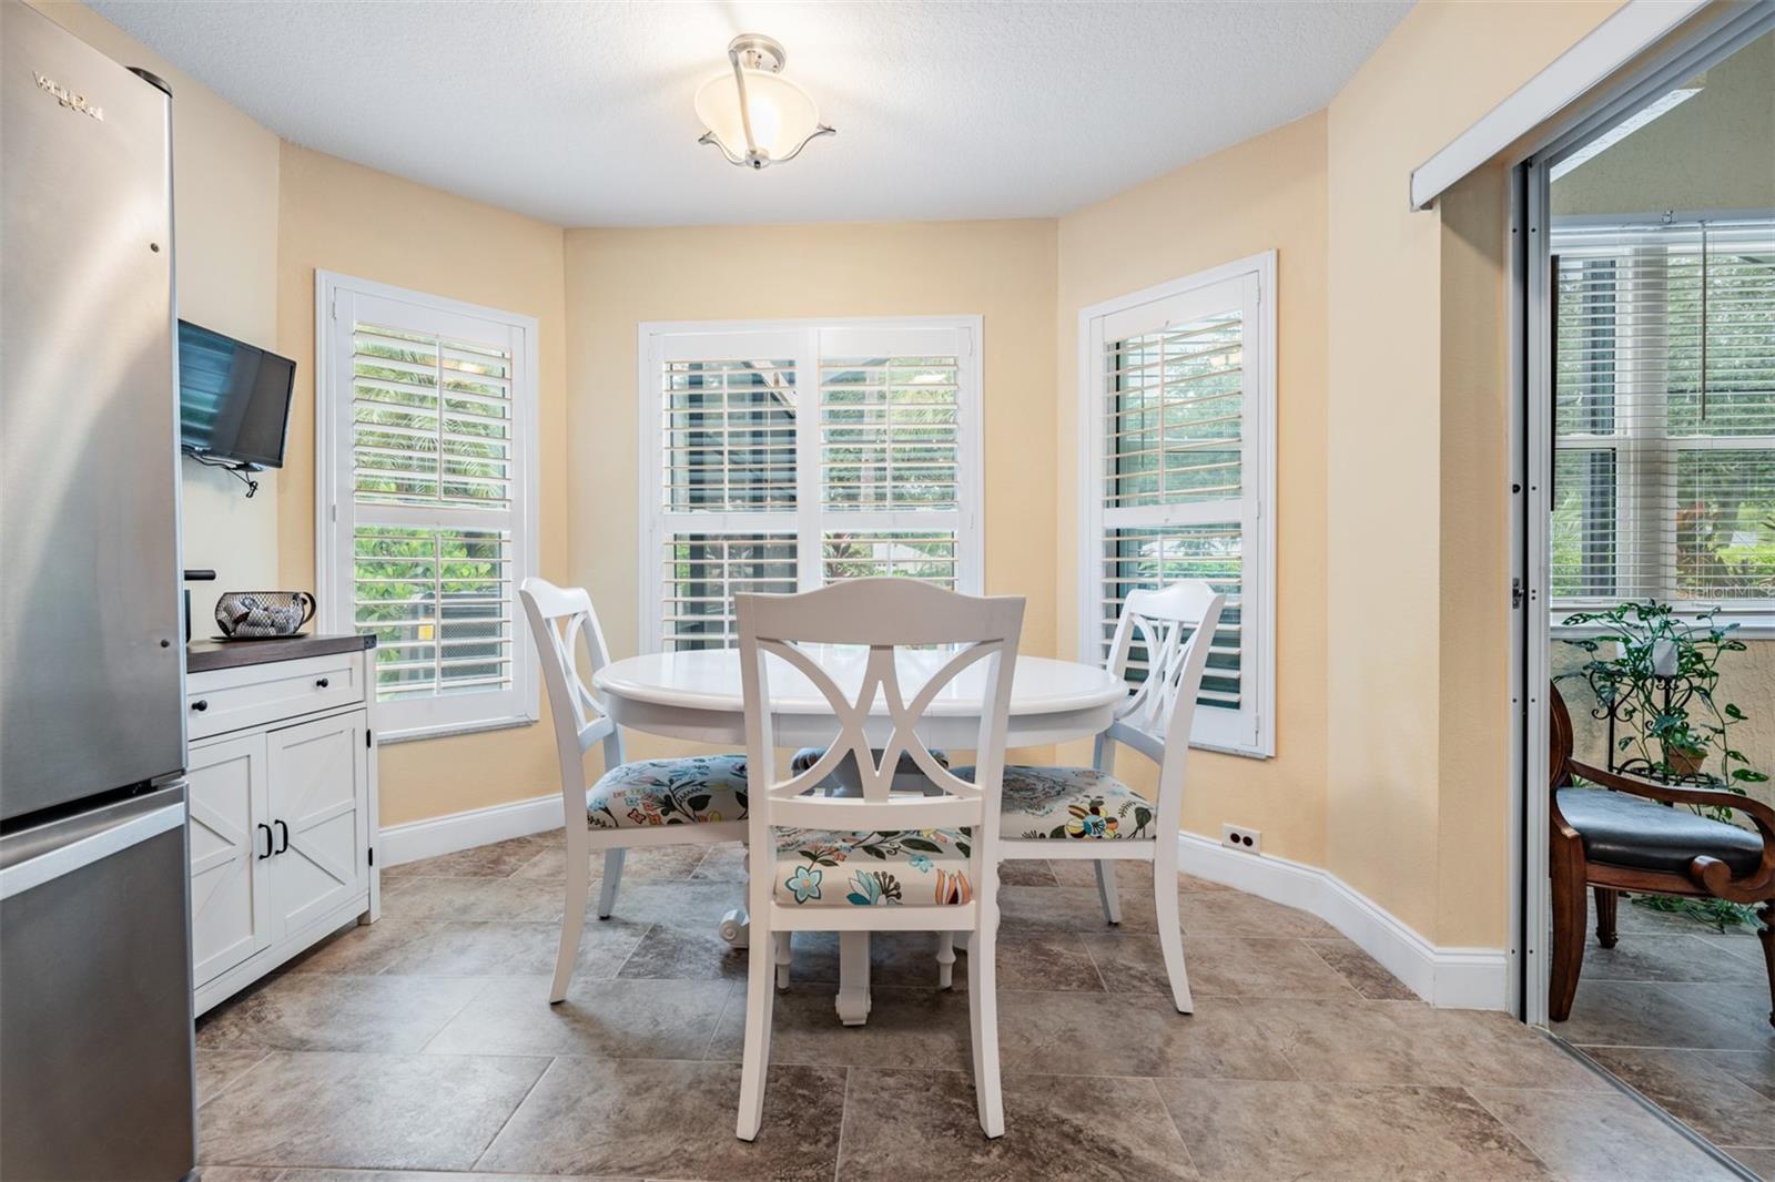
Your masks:
[{"label": "white frame of the window right of the dining table", "polygon": [[[1242,415],[1242,488],[1239,500],[1244,543],[1241,571],[1246,648],[1241,653],[1239,710],[1198,708],[1193,747],[1267,760],[1276,754],[1276,252],[1266,250],[1195,275],[1186,275],[1079,311],[1077,440],[1079,440],[1079,552],[1077,612],[1079,660],[1102,664],[1102,536],[1104,536],[1104,415],[1102,369],[1104,323],[1147,303],[1175,300],[1193,291],[1234,280],[1255,280],[1257,311],[1246,319],[1246,366],[1255,369],[1246,387]],[[1175,524],[1187,524],[1198,506],[1180,509]],[[1173,522],[1164,522],[1173,524]]]}]

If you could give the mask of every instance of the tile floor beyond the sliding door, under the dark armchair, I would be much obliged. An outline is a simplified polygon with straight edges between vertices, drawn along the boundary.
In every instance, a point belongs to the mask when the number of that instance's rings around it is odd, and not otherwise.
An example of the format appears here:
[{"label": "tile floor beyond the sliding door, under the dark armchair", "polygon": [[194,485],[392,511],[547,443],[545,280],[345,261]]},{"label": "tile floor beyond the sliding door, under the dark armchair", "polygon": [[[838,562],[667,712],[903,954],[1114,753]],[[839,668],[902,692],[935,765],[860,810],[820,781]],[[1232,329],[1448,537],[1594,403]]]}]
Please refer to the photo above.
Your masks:
[{"label": "tile floor beyond the sliding door, under the dark armchair", "polygon": [[1775,1026],[1763,948],[1622,900],[1619,941],[1590,937],[1564,1038],[1642,1095],[1775,1178]]}]

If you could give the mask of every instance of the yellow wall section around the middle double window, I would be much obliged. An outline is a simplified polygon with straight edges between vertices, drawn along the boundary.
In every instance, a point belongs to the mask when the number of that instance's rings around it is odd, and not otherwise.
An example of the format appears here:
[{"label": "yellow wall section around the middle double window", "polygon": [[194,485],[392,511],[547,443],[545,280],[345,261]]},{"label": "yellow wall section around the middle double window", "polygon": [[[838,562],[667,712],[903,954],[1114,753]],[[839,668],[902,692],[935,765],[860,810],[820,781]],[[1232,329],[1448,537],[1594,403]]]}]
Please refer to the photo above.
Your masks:
[{"label": "yellow wall section around the middle double window", "polygon": [[1051,220],[568,231],[568,573],[612,651],[639,646],[643,321],[962,312],[985,321],[985,589],[1026,595],[1022,648],[1053,655]]}]

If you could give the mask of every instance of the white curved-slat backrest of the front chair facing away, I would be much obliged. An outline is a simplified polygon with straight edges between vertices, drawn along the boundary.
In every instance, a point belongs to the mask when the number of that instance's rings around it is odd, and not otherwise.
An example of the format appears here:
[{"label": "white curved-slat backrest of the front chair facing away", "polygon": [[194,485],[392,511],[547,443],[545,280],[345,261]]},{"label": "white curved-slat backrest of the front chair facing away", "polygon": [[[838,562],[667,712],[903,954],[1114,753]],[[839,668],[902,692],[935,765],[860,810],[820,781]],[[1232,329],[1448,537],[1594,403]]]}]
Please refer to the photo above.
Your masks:
[{"label": "white curved-slat backrest of the front chair facing away", "polygon": [[[1010,687],[1022,630],[1022,598],[974,598],[912,579],[856,579],[804,595],[737,595],[740,676],[746,692],[747,767],[753,841],[777,827],[859,831],[998,829],[1005,770]],[[806,646],[866,648],[861,683],[841,687]],[[909,648],[937,646],[916,660],[935,666],[916,692],[900,683]],[[953,650],[953,651],[951,651]],[[918,733],[919,721],[951,682],[976,664],[985,669],[980,699],[974,779],[937,761]],[[776,666],[776,669],[772,669]],[[806,770],[779,777],[772,719],[772,674],[795,669],[827,701],[836,737]],[[856,671],[856,669],[852,669]],[[848,678],[847,678],[848,680]],[[882,701],[888,738],[873,738],[872,706]],[[879,756],[877,756],[879,751]],[[930,795],[891,793],[900,754],[907,753],[935,788]],[[816,790],[847,756],[861,772],[861,797]],[[976,834],[974,855],[994,834]],[[765,847],[769,848],[769,847]]]}]

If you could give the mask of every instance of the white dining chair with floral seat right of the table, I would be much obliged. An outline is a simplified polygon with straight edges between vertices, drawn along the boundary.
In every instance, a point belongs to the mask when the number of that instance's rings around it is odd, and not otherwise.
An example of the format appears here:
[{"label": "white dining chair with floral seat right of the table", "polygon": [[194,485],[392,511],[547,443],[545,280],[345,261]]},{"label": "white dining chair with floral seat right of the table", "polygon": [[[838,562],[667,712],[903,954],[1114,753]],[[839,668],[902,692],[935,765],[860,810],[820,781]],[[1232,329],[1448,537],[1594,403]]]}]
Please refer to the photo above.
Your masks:
[{"label": "white dining chair with floral seat right of the table", "polygon": [[[1177,831],[1184,811],[1184,765],[1189,726],[1207,667],[1209,644],[1227,596],[1205,582],[1173,582],[1157,591],[1131,591],[1109,644],[1108,667],[1127,676],[1136,644],[1145,664],[1140,689],[1097,737],[1092,767],[1026,767],[1003,772],[1001,859],[1086,859],[1097,864],[1104,919],[1122,921],[1115,861],[1152,863],[1152,902],[1159,948],[1172,981],[1172,1003],[1189,1013],[1189,974],[1177,921]],[[1125,744],[1159,767],[1154,799],[1115,777],[1115,751]],[[969,776],[969,768],[955,768]],[[939,965],[953,953],[939,946]]]}]

